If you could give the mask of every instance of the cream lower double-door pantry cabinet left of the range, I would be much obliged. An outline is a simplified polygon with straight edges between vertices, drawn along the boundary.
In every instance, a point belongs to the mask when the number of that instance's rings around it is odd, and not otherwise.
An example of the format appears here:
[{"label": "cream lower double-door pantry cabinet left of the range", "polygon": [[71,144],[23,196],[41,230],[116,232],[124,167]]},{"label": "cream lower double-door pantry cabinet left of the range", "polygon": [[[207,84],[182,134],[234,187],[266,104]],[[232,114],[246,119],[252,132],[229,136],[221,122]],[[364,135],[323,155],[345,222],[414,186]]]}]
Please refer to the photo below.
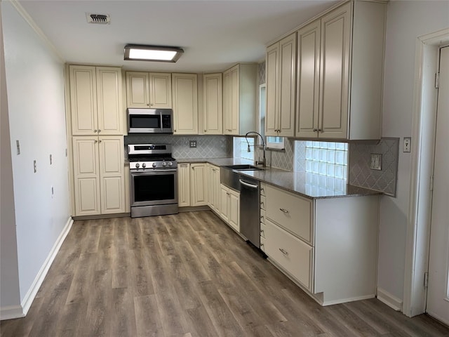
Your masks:
[{"label": "cream lower double-door pantry cabinet left of the range", "polygon": [[75,216],[125,213],[123,137],[73,137]]}]

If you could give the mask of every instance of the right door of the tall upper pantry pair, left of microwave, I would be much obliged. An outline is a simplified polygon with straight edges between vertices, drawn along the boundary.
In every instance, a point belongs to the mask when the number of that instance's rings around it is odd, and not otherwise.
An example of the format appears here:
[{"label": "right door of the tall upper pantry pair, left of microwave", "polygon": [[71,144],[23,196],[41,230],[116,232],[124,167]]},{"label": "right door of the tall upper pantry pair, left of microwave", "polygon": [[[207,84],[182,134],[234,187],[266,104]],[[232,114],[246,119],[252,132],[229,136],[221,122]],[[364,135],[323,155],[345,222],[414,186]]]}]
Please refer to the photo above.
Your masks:
[{"label": "right door of the tall upper pantry pair, left of microwave", "polygon": [[97,111],[99,135],[123,135],[121,70],[97,67]]}]

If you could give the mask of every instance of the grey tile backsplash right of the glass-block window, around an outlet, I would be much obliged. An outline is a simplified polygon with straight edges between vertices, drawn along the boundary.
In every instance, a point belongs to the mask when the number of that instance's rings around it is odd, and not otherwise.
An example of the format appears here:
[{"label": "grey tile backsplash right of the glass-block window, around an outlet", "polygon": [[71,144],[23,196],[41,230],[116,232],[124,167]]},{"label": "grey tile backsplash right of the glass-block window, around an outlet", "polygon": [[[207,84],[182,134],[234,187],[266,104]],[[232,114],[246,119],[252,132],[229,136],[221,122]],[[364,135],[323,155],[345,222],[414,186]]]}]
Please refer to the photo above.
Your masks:
[{"label": "grey tile backsplash right of the glass-block window, around an outlet", "polygon": [[[370,169],[370,154],[382,154],[382,170]],[[396,197],[399,138],[382,138],[379,143],[355,142],[349,147],[349,183]]]}]

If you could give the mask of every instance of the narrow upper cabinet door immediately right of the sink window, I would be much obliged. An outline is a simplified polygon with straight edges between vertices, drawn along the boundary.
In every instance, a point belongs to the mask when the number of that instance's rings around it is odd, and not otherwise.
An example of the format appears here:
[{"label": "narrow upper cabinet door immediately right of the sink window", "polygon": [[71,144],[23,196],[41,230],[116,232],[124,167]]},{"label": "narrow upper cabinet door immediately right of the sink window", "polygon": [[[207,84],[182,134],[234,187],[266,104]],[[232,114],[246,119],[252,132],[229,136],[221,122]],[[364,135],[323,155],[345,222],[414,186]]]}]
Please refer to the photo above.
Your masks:
[{"label": "narrow upper cabinet door immediately right of the sink window", "polygon": [[279,43],[267,48],[266,58],[267,111],[265,115],[265,136],[278,136],[279,104],[276,93],[279,91]]}]

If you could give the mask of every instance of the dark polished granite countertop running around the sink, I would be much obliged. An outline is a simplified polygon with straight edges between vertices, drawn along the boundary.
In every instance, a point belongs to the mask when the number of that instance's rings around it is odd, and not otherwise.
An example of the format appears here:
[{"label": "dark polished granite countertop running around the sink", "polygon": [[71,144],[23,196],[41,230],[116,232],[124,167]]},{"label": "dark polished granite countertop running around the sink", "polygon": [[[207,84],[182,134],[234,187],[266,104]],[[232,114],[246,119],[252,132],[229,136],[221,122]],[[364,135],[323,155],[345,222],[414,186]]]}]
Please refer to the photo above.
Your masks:
[{"label": "dark polished granite countertop running around the sink", "polygon": [[[178,163],[210,163],[215,166],[227,166],[235,164],[251,164],[254,161],[240,158],[197,158],[177,159]],[[342,185],[341,180],[332,177],[321,176],[316,173],[292,172],[267,167],[257,171],[239,171],[243,176],[248,176],[280,187],[283,190],[293,192],[311,199],[323,199],[333,197],[356,197],[368,195],[381,195],[382,192],[367,188]]]}]

